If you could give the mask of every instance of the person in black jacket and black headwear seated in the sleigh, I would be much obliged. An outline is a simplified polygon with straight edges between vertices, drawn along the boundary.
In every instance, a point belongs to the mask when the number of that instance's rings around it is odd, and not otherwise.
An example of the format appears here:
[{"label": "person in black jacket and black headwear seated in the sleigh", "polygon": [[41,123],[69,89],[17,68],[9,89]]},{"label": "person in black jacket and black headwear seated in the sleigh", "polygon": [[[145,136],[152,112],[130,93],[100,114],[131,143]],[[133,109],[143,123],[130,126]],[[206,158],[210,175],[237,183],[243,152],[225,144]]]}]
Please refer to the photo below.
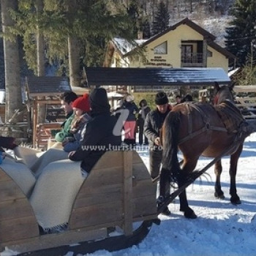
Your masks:
[{"label": "person in black jacket and black headwear seated in the sleigh", "polygon": [[114,135],[115,116],[110,116],[107,92],[94,89],[90,94],[91,121],[86,125],[83,143],[76,151],[69,153],[72,161],[83,161],[81,168],[89,173],[110,146],[121,146],[121,134]]}]

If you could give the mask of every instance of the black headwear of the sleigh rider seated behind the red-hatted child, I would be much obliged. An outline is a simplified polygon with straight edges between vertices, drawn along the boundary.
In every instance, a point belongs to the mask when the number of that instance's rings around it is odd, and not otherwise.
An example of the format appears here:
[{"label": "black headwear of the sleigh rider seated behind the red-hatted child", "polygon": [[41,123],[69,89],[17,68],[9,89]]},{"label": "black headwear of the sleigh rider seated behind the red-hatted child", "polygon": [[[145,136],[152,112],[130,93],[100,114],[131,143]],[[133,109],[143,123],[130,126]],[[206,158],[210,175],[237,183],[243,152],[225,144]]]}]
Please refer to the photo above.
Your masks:
[{"label": "black headwear of the sleigh rider seated behind the red-hatted child", "polygon": [[110,110],[108,94],[104,88],[97,88],[91,91],[90,105],[93,112],[106,112]]}]

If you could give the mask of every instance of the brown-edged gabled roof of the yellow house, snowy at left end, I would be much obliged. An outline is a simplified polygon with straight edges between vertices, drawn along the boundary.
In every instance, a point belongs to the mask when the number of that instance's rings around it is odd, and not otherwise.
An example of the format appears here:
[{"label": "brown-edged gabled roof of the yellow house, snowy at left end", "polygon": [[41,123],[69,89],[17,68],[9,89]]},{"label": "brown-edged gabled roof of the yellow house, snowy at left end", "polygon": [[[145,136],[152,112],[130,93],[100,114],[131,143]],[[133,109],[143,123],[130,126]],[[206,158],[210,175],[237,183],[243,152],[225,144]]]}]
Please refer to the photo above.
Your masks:
[{"label": "brown-edged gabled roof of the yellow house, snowy at left end", "polygon": [[189,20],[189,18],[184,18],[183,20],[179,21],[178,23],[174,24],[173,26],[169,26],[167,29],[162,31],[159,34],[156,34],[154,37],[151,37],[149,39],[143,39],[143,40],[135,40],[135,44],[132,45],[132,43],[127,42],[126,39],[121,38],[114,38],[112,40],[113,44],[116,45],[116,50],[118,50],[119,54],[121,56],[128,56],[131,53],[133,53],[133,50],[138,47],[145,47],[150,42],[153,42],[154,40],[158,39],[159,37],[162,37],[164,34],[168,33],[169,31],[175,30],[178,28],[178,26],[181,25],[187,25],[197,31],[199,34],[202,34],[203,37],[207,40],[207,43],[211,48],[214,48],[219,53],[222,53],[224,56],[227,56],[228,58],[236,59],[236,56],[230,53],[229,51],[225,50],[225,48],[222,48],[220,45],[218,45],[214,40],[216,37],[208,32],[206,29],[203,29],[201,26],[198,26],[195,22],[192,20]]}]

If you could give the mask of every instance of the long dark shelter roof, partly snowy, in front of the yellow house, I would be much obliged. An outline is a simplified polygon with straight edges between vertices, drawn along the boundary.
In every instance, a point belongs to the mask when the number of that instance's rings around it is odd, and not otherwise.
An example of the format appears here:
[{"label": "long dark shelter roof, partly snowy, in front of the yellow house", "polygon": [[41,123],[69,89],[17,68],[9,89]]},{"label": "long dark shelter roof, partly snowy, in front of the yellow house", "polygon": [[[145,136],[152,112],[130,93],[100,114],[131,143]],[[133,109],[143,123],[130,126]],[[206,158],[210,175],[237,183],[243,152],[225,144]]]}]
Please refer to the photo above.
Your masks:
[{"label": "long dark shelter roof, partly snowy, in front of the yellow house", "polygon": [[221,68],[87,67],[89,86],[213,86],[230,83]]}]

